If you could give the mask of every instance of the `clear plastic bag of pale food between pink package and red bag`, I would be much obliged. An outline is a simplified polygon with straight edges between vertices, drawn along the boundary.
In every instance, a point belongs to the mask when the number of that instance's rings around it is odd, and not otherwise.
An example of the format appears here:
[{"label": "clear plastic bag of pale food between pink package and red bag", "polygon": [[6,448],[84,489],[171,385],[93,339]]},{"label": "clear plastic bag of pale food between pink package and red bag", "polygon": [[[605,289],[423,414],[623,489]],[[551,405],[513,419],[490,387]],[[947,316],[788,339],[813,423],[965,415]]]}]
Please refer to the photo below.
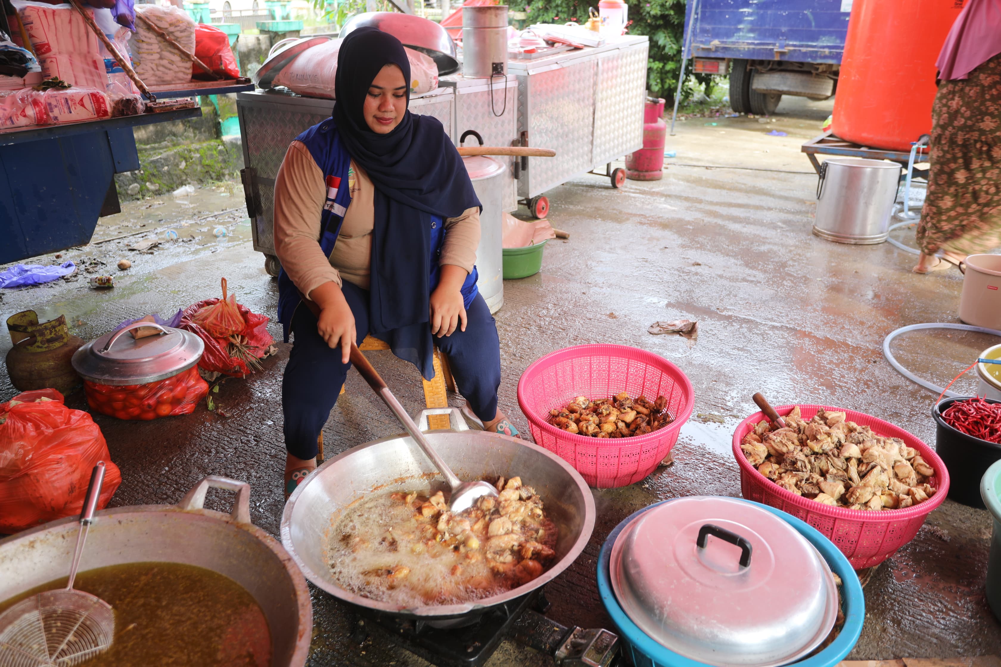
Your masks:
[{"label": "clear plastic bag of pale food between pink package and red bag", "polygon": [[190,81],[191,61],[153,32],[143,18],[148,19],[185,51],[193,53],[195,23],[191,17],[176,7],[158,5],[140,5],[136,11],[142,18],[137,17],[135,34],[131,39],[135,73],[150,86]]}]

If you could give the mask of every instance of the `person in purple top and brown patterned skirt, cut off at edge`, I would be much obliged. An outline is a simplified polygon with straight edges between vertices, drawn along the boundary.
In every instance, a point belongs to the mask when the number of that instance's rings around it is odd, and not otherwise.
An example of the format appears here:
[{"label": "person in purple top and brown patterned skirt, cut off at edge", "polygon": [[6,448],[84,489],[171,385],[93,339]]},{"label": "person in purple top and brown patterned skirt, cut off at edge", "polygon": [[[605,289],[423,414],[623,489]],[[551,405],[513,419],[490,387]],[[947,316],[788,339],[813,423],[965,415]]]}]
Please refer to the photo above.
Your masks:
[{"label": "person in purple top and brown patterned skirt, cut off at edge", "polygon": [[1001,0],[969,0],[936,67],[941,83],[915,273],[1001,247]]}]

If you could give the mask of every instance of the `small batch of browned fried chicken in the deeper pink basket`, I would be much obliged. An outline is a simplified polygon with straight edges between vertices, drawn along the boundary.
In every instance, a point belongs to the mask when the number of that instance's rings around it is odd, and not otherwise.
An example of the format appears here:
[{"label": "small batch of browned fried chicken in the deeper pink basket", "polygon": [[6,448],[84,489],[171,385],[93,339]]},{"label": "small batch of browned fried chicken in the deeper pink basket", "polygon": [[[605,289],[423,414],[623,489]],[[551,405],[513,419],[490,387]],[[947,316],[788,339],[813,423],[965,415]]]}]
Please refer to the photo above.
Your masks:
[{"label": "small batch of browned fried chicken in the deeper pink basket", "polygon": [[547,421],[568,433],[592,438],[628,438],[652,433],[673,422],[667,406],[668,399],[664,396],[653,402],[646,396],[632,399],[626,392],[597,401],[578,396],[563,410],[551,410]]}]

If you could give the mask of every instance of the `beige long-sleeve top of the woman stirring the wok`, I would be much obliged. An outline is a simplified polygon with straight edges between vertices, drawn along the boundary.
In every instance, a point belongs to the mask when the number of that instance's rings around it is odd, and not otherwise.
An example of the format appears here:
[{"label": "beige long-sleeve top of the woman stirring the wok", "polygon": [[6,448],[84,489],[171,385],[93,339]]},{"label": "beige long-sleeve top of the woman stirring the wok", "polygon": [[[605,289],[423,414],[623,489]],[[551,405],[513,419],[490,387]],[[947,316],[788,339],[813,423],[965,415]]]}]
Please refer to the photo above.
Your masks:
[{"label": "beige long-sleeve top of the woman stirring the wok", "polygon": [[[274,251],[299,291],[309,293],[325,282],[343,280],[368,289],[371,234],[374,227],[374,186],[351,161],[348,178],[351,203],[337,243],[329,257],[319,247],[320,213],[326,201],[323,172],[302,143],[293,141],[274,181]],[[472,271],[479,245],[479,209],[469,208],[444,222],[445,237],[439,263]]]}]

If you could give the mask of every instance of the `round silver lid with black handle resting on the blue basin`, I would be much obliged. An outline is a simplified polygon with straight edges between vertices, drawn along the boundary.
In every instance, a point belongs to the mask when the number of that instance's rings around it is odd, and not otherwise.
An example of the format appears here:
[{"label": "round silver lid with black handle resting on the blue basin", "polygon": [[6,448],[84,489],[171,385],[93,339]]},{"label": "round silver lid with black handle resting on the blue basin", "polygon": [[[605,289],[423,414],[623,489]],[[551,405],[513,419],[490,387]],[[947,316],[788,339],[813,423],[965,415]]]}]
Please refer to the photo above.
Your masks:
[{"label": "round silver lid with black handle resting on the blue basin", "polygon": [[610,574],[645,633],[710,665],[792,662],[838,615],[834,575],[813,545],[737,498],[693,496],[644,512],[616,540]]}]

